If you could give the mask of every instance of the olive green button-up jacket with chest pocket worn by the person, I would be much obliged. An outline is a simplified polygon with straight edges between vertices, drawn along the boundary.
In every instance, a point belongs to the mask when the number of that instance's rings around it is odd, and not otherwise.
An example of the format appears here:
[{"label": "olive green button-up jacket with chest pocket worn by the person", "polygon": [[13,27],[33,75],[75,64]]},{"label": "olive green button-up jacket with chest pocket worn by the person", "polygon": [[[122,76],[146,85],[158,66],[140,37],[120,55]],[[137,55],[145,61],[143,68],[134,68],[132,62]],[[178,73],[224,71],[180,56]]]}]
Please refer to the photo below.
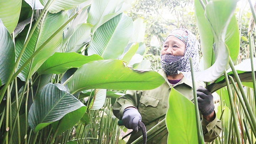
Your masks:
[{"label": "olive green button-up jacket with chest pocket worn by the person", "polygon": [[[144,124],[150,122],[152,119],[155,119],[162,114],[166,114],[169,107],[168,97],[171,90],[171,85],[167,80],[166,74],[163,70],[158,70],[158,73],[165,78],[165,83],[153,90],[145,91],[131,91],[128,90],[126,95],[118,98],[117,102],[114,103],[113,113],[118,119],[122,119],[123,111],[127,107],[137,107],[139,113],[142,115],[142,122]],[[197,87],[200,85],[204,86],[204,83],[197,82]],[[181,92],[189,100],[193,99],[193,89],[192,82],[187,80],[185,77],[182,78],[178,84],[176,84],[175,89]],[[159,123],[163,118],[160,118],[148,125],[146,125],[146,130],[151,129],[157,123]],[[205,142],[211,142],[218,137],[222,128],[221,121],[215,118],[212,122],[206,121],[202,118],[201,121],[204,140]],[[161,125],[161,124],[160,124]],[[161,126],[159,126],[160,128]],[[133,133],[128,140],[128,143],[133,142],[135,139],[142,135],[141,130],[138,133]],[[147,141],[148,143],[158,143],[165,144],[167,143],[167,130],[161,132],[157,137]]]}]

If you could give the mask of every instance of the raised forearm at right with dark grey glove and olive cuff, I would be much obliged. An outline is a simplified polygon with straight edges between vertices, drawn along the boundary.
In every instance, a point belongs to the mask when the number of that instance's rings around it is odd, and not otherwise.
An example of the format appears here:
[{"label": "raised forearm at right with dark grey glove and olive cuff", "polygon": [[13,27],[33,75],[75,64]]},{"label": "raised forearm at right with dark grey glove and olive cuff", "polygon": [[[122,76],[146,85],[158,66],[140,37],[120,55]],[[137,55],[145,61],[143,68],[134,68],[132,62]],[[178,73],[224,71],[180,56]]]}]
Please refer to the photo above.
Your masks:
[{"label": "raised forearm at right with dark grey glove and olive cuff", "polygon": [[219,119],[216,118],[212,94],[205,88],[197,89],[198,109],[202,116],[202,129],[205,142],[212,142],[222,130]]}]

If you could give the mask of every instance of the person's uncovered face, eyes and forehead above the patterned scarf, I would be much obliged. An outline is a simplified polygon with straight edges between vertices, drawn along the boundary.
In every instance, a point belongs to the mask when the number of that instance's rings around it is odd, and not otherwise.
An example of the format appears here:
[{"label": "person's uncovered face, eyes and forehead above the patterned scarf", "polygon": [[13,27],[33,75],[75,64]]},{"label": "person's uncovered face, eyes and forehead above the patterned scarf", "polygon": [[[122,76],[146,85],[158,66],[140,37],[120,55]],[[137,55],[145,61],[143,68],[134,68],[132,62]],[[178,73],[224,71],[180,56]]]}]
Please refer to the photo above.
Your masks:
[{"label": "person's uncovered face, eyes and forehead above the patterned scarf", "polygon": [[184,56],[186,44],[175,36],[169,36],[161,50],[161,54],[171,54],[174,56]]}]

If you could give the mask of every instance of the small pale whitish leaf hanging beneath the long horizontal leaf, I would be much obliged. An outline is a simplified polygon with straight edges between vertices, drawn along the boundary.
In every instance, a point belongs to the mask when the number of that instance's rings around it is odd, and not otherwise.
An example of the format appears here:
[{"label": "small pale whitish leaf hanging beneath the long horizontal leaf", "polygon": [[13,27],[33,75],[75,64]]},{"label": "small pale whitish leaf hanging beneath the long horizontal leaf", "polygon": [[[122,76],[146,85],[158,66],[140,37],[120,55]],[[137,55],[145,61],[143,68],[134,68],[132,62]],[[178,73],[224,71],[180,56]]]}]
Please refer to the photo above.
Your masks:
[{"label": "small pale whitish leaf hanging beneath the long horizontal leaf", "polygon": [[95,89],[94,98],[89,106],[91,110],[100,110],[105,104],[107,95],[106,89]]}]

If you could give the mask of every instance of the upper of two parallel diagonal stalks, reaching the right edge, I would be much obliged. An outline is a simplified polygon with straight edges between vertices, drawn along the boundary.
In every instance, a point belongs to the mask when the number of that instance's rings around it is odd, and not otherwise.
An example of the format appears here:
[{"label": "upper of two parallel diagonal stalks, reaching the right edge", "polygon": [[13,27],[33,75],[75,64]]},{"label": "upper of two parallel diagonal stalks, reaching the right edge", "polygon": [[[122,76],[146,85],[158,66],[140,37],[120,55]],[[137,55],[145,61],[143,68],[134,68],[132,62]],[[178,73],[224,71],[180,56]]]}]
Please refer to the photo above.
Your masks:
[{"label": "upper of two parallel diagonal stalks, reaching the right edge", "polygon": [[256,119],[255,119],[255,116],[254,116],[254,113],[252,112],[252,109],[251,109],[251,106],[250,106],[250,103],[248,102],[248,99],[245,95],[245,92],[244,92],[244,89],[242,87],[242,83],[241,83],[241,80],[239,79],[239,76],[238,76],[238,73],[236,72],[235,70],[235,67],[234,67],[234,64],[231,60],[231,58],[229,57],[229,65],[233,71],[233,74],[235,76],[235,79],[236,79],[236,83],[238,84],[238,87],[240,89],[240,92],[242,94],[242,98],[244,99],[244,102],[245,102],[245,105],[246,105],[246,109],[251,117],[251,121],[252,121],[252,126],[253,127],[256,127]]}]

